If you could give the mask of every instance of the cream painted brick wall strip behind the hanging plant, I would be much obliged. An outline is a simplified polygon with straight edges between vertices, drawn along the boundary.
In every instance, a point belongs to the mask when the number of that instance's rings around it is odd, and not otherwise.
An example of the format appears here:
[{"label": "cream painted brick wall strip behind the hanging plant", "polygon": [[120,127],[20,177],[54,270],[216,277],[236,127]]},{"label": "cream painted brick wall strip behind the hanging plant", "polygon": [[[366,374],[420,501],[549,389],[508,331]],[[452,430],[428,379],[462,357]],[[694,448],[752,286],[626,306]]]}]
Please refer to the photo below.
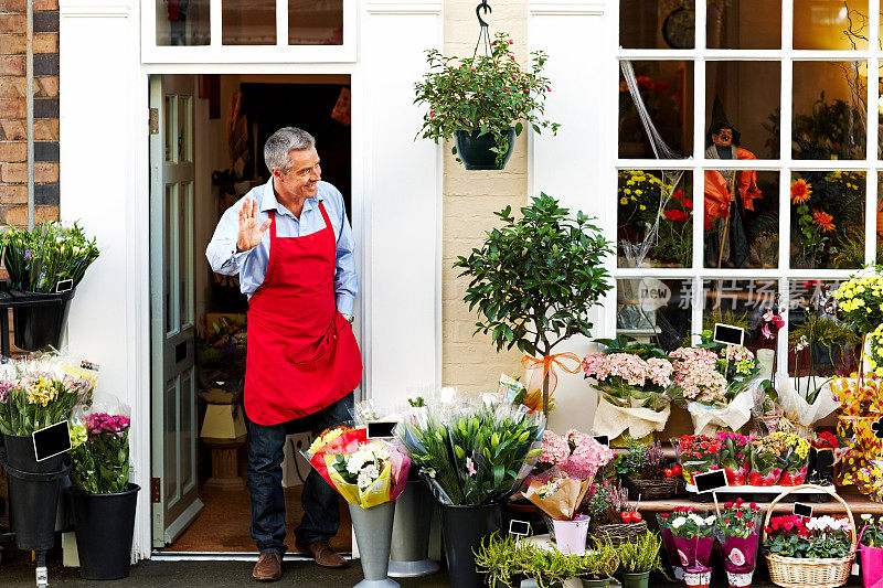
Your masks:
[{"label": "cream painted brick wall strip behind the hanging plant", "polygon": [[[445,1],[445,54],[469,56],[478,40],[475,0]],[[491,36],[504,31],[512,36],[521,63],[528,57],[526,1],[489,2],[485,15]],[[469,313],[462,297],[466,280],[457,278],[451,265],[485,239],[485,231],[497,221],[494,211],[528,202],[526,133],[515,139],[514,153],[503,171],[466,171],[445,146],[444,180],[444,286],[443,286],[443,381],[470,392],[493,392],[500,373],[523,373],[517,351],[497,353],[490,338],[472,336],[476,314]]]}]

